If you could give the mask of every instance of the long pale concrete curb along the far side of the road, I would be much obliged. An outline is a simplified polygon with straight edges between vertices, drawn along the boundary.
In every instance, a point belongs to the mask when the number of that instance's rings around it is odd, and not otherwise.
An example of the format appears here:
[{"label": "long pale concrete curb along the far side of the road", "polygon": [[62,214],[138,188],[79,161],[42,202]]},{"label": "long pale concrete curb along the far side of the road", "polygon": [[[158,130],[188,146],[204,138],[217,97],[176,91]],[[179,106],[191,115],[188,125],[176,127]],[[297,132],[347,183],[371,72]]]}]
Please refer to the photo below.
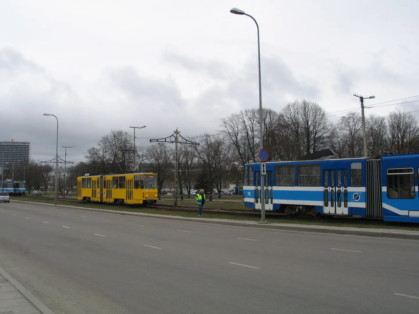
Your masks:
[{"label": "long pale concrete curb along the far side of the road", "polygon": [[90,207],[80,207],[80,206],[70,206],[70,205],[54,205],[49,203],[39,203],[31,201],[16,201],[22,203],[31,203],[31,204],[42,204],[47,206],[53,206],[58,208],[72,208],[80,209],[84,211],[96,211],[99,213],[108,213],[108,214],[119,214],[126,216],[137,216],[137,217],[146,217],[146,218],[155,218],[155,219],[169,219],[176,221],[189,221],[189,222],[199,222],[204,224],[220,224],[228,226],[242,226],[242,227],[252,227],[252,228],[261,228],[261,229],[275,229],[275,230],[284,230],[284,231],[299,231],[299,232],[316,232],[316,233],[328,233],[328,234],[345,234],[345,235],[355,235],[355,236],[364,236],[364,237],[382,237],[382,238],[393,238],[393,239],[409,239],[409,240],[419,240],[419,233],[412,234],[409,232],[395,231],[392,232],[390,229],[385,229],[385,231],[371,231],[367,230],[351,230],[347,227],[324,227],[316,225],[287,225],[287,224],[258,224],[253,221],[219,221],[215,219],[206,219],[206,218],[193,218],[193,217],[182,217],[182,216],[169,216],[169,215],[158,215],[158,214],[147,214],[147,213],[137,213],[129,211],[115,211],[111,209],[99,209],[99,208],[90,208]]}]

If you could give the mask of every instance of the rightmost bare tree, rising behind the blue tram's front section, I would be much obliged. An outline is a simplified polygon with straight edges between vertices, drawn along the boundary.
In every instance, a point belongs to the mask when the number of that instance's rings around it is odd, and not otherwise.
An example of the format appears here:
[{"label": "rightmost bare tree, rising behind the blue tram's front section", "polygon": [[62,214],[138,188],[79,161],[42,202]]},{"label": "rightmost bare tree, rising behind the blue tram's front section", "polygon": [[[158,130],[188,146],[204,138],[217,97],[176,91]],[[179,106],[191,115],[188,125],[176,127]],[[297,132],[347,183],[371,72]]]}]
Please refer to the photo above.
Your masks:
[{"label": "rightmost bare tree, rising behind the blue tram's front section", "polygon": [[419,124],[414,115],[401,110],[388,116],[388,141],[395,154],[410,154],[417,151]]}]

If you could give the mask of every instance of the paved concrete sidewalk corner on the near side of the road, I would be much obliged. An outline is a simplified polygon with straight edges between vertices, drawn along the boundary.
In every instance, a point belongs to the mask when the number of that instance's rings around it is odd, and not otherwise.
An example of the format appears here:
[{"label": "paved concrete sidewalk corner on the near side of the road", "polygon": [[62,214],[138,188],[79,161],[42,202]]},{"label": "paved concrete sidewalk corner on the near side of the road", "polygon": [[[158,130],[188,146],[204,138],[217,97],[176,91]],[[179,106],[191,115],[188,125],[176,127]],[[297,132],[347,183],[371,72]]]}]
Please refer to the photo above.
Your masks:
[{"label": "paved concrete sidewalk corner on the near side of the road", "polygon": [[54,314],[0,268],[0,314]]}]

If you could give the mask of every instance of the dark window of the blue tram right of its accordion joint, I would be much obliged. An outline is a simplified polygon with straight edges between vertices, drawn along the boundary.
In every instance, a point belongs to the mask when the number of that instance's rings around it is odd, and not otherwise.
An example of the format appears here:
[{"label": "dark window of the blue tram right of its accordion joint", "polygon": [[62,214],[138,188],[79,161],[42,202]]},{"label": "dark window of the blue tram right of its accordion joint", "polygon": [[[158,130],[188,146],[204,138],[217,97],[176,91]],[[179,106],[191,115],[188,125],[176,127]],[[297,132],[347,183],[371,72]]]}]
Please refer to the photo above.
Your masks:
[{"label": "dark window of the blue tram right of its accordion joint", "polygon": [[413,168],[387,169],[387,197],[415,198]]}]

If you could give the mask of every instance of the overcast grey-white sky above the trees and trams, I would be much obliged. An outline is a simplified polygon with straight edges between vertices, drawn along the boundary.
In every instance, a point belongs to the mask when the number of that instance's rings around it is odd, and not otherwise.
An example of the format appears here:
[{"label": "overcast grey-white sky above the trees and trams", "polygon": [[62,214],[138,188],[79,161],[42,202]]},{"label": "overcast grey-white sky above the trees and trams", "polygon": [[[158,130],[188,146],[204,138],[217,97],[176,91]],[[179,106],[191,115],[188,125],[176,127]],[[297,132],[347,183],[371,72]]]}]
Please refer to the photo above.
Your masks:
[{"label": "overcast grey-white sky above the trees and trams", "polygon": [[112,128],[147,125],[145,145],[176,127],[217,133],[220,118],[259,106],[256,25],[233,7],[259,23],[264,107],[305,98],[335,112],[359,106],[353,93],[375,95],[366,105],[419,95],[414,0],[0,0],[0,140],[54,158],[45,112],[74,162]]}]

